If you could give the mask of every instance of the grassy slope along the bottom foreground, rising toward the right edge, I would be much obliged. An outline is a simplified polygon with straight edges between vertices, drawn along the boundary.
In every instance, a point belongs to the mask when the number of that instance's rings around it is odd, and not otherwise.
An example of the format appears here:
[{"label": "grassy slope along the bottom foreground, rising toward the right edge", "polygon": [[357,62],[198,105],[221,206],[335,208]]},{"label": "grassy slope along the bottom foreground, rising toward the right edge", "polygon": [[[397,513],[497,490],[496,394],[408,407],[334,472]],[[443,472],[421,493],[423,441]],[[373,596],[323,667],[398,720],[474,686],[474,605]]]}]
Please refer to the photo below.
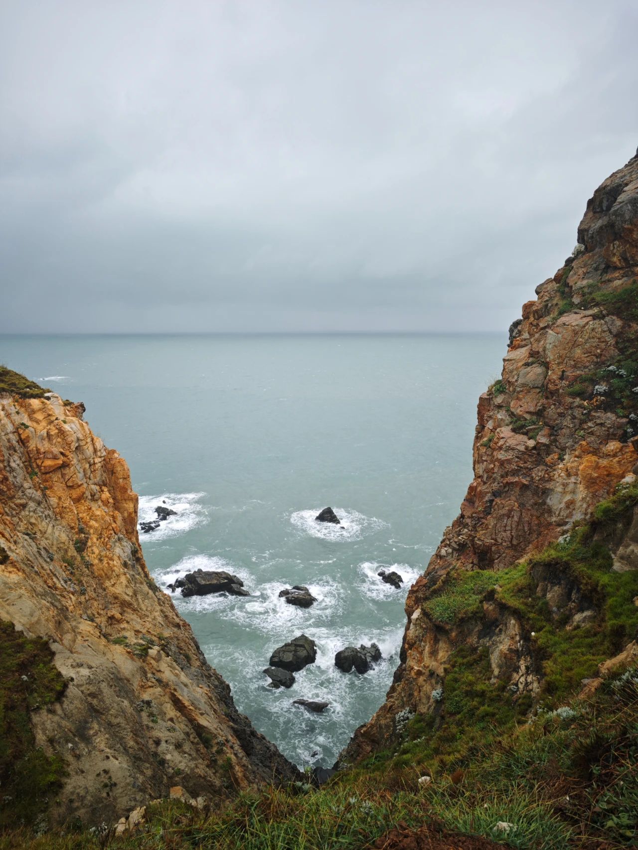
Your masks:
[{"label": "grassy slope along the bottom foreground, rising toward the right edge", "polygon": [[[513,825],[508,847],[607,850],[638,842],[638,672],[612,677],[565,719],[540,713],[509,731],[477,735],[447,763],[419,760],[418,718],[398,751],[336,774],[320,789],[305,783],[244,792],[227,807],[193,811],[182,802],[149,808],[133,835],[108,838],[75,825],[37,837],[0,836],[0,850],[341,850],[369,848],[398,823],[439,819],[447,830],[504,841],[494,827]],[[487,728],[486,728],[487,729]],[[426,769],[430,785],[419,786]]]}]

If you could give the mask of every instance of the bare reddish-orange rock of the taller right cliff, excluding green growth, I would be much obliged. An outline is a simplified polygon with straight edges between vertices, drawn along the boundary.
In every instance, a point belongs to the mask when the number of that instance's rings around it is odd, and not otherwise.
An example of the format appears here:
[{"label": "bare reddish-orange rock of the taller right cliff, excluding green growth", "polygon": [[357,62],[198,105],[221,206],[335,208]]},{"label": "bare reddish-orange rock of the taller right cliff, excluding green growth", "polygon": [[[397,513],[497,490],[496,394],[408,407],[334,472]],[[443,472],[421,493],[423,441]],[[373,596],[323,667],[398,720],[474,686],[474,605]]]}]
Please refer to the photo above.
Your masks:
[{"label": "bare reddish-orange rock of the taller right cliff, excluding green growth", "polygon": [[[453,570],[503,569],[555,541],[638,462],[638,387],[634,393],[624,380],[634,373],[624,366],[638,359],[638,157],[595,191],[578,243],[510,329],[502,378],[478,403],[475,478],[407,597],[402,663],[386,702],[357,730],[343,762],[390,740],[397,711],[431,710],[460,643],[487,648],[493,676],[512,688],[538,689],[506,612],[486,611],[473,633],[467,624],[433,623],[423,605]],[[635,551],[635,542],[624,545],[618,569],[638,563]]]}]

